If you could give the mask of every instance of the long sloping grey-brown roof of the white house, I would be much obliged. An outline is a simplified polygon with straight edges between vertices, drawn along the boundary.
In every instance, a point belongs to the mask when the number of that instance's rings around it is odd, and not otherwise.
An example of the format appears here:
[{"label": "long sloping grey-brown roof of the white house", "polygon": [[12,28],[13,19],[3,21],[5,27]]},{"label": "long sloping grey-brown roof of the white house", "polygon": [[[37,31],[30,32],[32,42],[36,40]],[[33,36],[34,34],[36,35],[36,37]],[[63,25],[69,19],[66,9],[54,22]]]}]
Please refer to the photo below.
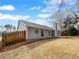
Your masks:
[{"label": "long sloping grey-brown roof of the white house", "polygon": [[24,21],[24,20],[19,20],[19,21],[21,21],[24,24],[26,24],[27,27],[53,30],[51,27],[48,27],[48,26],[39,25],[39,24],[35,24],[35,23],[32,23],[32,22]]}]

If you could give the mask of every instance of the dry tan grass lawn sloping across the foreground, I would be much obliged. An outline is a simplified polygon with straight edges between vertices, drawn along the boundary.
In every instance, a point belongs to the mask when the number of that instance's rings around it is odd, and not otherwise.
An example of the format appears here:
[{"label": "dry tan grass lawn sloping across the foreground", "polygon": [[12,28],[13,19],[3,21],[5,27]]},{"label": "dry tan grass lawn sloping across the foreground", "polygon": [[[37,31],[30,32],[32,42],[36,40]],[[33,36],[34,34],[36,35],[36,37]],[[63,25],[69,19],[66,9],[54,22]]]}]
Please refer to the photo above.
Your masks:
[{"label": "dry tan grass lawn sloping across the foreground", "polygon": [[79,37],[57,38],[0,53],[0,59],[79,59]]}]

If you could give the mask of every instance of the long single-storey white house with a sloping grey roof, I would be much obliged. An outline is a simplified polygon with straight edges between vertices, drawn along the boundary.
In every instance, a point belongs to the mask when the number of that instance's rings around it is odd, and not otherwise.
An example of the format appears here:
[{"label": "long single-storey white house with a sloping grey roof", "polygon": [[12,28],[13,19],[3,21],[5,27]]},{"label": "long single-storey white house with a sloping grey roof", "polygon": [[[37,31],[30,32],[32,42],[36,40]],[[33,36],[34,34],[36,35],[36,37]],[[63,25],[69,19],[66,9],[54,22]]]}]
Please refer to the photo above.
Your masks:
[{"label": "long single-storey white house with a sloping grey roof", "polygon": [[18,21],[17,31],[26,31],[26,39],[41,39],[54,36],[52,28],[24,20]]}]

